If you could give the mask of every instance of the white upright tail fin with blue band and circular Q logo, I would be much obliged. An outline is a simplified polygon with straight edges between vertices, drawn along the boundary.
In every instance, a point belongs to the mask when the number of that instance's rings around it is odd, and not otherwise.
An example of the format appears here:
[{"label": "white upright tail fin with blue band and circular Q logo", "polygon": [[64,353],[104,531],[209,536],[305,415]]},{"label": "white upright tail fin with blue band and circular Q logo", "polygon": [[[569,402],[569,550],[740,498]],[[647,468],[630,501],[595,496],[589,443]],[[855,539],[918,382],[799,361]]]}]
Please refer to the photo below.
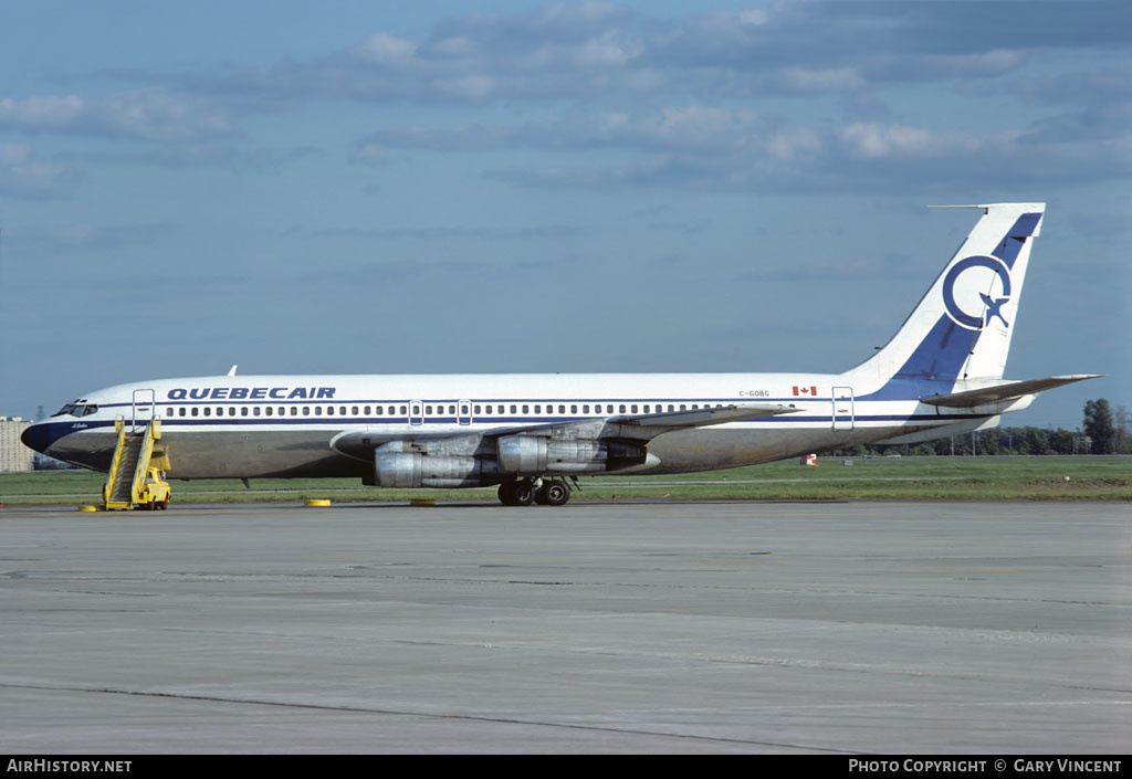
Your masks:
[{"label": "white upright tail fin with blue band and circular Q logo", "polygon": [[895,336],[849,371],[860,380],[1002,378],[1045,204],[950,207],[983,216]]}]

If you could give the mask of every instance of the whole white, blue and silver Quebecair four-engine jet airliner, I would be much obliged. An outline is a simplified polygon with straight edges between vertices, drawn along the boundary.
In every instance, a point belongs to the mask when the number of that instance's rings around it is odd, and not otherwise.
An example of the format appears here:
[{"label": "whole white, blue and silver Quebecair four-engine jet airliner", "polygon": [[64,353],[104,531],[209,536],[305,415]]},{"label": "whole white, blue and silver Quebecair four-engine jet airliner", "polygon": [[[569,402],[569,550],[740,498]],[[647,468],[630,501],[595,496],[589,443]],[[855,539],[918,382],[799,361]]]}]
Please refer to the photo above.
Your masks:
[{"label": "whole white, blue and silver Quebecair four-engine jet airliner", "polygon": [[983,212],[880,351],[842,374],[228,376],[87,393],[24,431],[106,471],[115,420],[160,420],[170,479],[360,477],[381,487],[499,486],[565,504],[597,473],[735,468],[857,444],[983,430],[1036,393],[1094,375],[1005,380],[1045,204]]}]

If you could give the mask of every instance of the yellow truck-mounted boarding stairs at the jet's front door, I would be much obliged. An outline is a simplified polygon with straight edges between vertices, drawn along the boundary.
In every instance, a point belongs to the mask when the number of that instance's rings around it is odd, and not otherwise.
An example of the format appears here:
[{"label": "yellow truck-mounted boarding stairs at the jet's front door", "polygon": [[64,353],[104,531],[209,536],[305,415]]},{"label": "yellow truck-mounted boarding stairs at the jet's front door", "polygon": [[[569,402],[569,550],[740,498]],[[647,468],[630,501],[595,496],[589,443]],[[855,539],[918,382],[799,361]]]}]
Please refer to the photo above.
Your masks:
[{"label": "yellow truck-mounted boarding stairs at the jet's front door", "polygon": [[102,490],[104,508],[165,508],[169,485],[151,465],[154,444],[161,439],[161,420],[114,422],[118,444]]}]

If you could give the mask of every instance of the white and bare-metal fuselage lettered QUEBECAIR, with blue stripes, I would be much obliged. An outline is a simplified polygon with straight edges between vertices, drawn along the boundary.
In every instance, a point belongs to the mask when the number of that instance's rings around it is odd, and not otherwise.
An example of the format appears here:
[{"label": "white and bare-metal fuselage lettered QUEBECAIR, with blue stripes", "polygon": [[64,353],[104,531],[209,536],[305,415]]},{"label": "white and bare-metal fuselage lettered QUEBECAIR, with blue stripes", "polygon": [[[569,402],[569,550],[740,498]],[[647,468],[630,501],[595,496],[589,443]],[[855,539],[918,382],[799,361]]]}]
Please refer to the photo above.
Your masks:
[{"label": "white and bare-metal fuselage lettered QUEBECAIR, with blue stripes", "polygon": [[[578,374],[452,376],[217,376],[120,385],[57,414],[51,456],[105,470],[115,419],[162,421],[170,478],[367,476],[372,462],[334,446],[342,433],[374,443],[498,435],[577,420],[709,406],[782,404],[794,413],[664,433],[637,472],[732,468],[893,436],[985,421],[915,397],[869,400],[878,380],[848,375]],[[923,384],[923,383],[920,383]],[[950,387],[950,385],[947,385]],[[929,394],[929,393],[926,393]],[[94,409],[91,411],[91,409]]]}]

